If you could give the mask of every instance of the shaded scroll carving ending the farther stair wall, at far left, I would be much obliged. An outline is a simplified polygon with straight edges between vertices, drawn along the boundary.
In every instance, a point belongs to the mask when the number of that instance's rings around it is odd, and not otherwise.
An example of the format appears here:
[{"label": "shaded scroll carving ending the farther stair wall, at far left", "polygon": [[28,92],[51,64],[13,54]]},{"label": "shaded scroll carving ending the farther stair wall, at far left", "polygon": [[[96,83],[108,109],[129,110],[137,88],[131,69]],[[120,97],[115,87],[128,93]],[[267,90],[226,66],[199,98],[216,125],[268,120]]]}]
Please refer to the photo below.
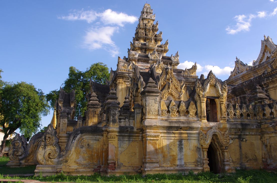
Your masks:
[{"label": "shaded scroll carving ending the farther stair wall, at far left", "polygon": [[16,134],[11,140],[11,147],[9,149],[9,158],[12,161],[19,160],[19,156],[24,154],[27,149],[27,142],[24,135]]}]

